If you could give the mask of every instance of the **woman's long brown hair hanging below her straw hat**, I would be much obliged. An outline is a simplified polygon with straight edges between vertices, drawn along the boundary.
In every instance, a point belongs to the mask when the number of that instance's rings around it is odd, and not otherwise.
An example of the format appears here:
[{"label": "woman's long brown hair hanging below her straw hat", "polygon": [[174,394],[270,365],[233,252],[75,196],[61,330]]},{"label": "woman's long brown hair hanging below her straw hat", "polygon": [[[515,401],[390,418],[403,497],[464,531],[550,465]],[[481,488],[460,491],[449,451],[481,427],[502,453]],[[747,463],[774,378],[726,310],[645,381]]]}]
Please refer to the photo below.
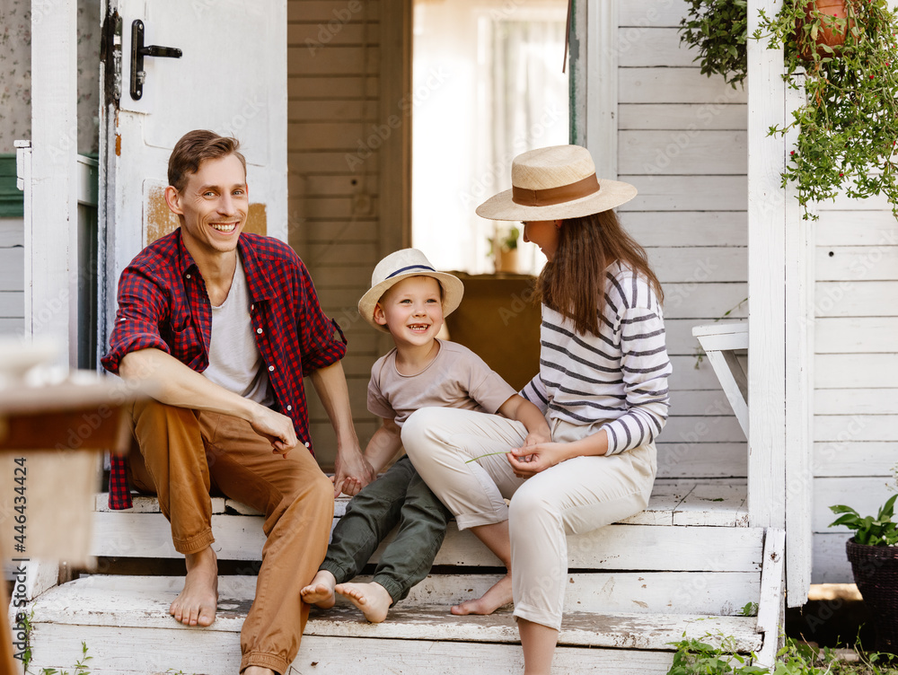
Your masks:
[{"label": "woman's long brown hair hanging below her straw hat", "polygon": [[578,332],[598,335],[605,267],[615,260],[644,276],[664,302],[646,250],[624,232],[613,211],[562,222],[555,256],[536,280],[537,300],[572,320]]}]

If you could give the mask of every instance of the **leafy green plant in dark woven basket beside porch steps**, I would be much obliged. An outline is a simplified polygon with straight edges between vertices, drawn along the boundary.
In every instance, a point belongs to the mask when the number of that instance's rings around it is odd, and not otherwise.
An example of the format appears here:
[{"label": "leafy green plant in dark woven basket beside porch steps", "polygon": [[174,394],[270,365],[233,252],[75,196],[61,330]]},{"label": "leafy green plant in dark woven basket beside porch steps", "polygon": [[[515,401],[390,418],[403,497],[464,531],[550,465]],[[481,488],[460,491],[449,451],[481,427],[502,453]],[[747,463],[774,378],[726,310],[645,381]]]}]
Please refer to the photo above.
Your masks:
[{"label": "leafy green plant in dark woven basket beside porch steps", "polygon": [[893,521],[896,498],[898,495],[887,499],[876,518],[862,518],[844,504],[830,506],[832,513],[841,513],[830,527],[843,525],[854,531],[846,545],[851,571],[876,626],[876,648],[888,653],[898,653],[898,522]]}]

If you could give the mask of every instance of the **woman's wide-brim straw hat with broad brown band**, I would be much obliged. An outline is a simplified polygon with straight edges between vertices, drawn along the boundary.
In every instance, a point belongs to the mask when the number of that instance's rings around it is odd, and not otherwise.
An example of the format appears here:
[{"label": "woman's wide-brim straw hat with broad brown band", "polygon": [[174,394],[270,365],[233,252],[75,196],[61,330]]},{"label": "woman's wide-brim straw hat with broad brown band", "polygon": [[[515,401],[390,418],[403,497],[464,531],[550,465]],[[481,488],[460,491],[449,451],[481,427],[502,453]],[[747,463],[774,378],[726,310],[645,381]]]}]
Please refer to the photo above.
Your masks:
[{"label": "woman's wide-brim straw hat with broad brown band", "polygon": [[542,221],[578,218],[621,206],[636,188],[620,180],[599,180],[589,151],[553,145],[519,154],[511,164],[512,188],[477,207],[493,220]]}]

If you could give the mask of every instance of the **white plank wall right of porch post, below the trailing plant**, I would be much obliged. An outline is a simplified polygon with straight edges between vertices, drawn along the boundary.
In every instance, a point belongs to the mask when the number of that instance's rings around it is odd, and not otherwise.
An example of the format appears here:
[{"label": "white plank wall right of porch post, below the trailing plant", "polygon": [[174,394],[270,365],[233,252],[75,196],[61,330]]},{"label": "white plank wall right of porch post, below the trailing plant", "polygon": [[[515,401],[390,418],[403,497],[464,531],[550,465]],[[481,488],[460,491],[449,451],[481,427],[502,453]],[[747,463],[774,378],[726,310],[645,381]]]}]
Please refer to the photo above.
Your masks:
[{"label": "white plank wall right of porch post, below the trailing plant", "polygon": [[[817,207],[814,583],[851,581],[831,504],[876,514],[898,461],[898,222],[884,199]],[[887,487],[886,483],[891,487]]]}]

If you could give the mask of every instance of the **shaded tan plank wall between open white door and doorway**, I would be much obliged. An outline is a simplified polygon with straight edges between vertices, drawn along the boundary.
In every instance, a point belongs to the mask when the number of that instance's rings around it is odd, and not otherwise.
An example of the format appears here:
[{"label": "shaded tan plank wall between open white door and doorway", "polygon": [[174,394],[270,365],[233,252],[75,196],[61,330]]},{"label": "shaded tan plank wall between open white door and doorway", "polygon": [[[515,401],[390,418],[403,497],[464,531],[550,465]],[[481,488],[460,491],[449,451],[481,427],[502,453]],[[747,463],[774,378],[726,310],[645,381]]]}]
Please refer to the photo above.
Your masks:
[{"label": "shaded tan plank wall between open white door and doorway", "polygon": [[[399,133],[379,119],[380,17],[377,0],[287,4],[290,243],[348,337],[343,367],[363,448],[375,428],[365,392],[383,347],[356,305],[387,237],[378,217],[378,153],[383,136]],[[309,400],[318,458],[327,464],[334,435],[314,394]]]}]

